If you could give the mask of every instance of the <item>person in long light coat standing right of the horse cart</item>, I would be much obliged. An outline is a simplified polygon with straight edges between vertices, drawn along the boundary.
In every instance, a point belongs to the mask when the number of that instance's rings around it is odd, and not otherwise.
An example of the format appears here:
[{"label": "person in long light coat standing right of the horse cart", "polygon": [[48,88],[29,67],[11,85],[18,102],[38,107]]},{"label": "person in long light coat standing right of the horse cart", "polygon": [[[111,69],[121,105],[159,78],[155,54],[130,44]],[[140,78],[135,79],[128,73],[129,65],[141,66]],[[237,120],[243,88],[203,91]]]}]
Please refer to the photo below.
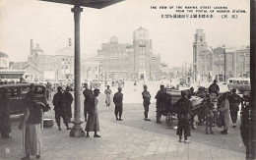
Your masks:
[{"label": "person in long light coat standing right of the horse cart", "polygon": [[219,111],[221,112],[221,114],[223,114],[223,117],[224,117],[224,119],[223,119],[224,131],[222,131],[221,133],[227,134],[228,123],[229,123],[229,102],[227,100],[226,92],[223,94],[223,101],[222,101],[221,108],[219,109]]}]

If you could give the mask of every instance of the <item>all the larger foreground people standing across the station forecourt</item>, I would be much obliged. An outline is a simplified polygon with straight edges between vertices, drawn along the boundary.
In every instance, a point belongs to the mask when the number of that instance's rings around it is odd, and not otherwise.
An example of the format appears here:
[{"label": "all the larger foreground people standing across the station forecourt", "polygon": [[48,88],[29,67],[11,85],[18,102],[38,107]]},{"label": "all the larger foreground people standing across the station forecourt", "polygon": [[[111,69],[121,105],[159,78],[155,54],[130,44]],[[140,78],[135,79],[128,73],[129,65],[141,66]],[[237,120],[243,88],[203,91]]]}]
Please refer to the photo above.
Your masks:
[{"label": "all the larger foreground people standing across the station forecourt", "polygon": [[[89,88],[88,83],[84,83],[83,86],[85,89],[83,90],[83,95],[85,97],[84,100],[84,117],[86,128],[85,131],[87,132],[86,136],[90,136],[90,132],[94,132],[94,137],[100,137],[99,134],[99,121],[98,121],[98,114],[97,114],[97,104],[98,99],[97,96],[100,93],[99,89]],[[151,104],[151,93],[148,90],[148,86],[146,83],[143,85],[144,90],[142,92],[142,98],[143,98],[143,107],[144,107],[144,120],[145,121],[151,121],[149,119],[149,108]],[[19,126],[19,129],[22,131],[25,131],[25,151],[26,156],[23,158],[24,160],[30,159],[31,155],[36,155],[36,158],[40,158],[41,154],[41,130],[43,127],[43,110],[41,105],[38,102],[36,102],[36,99],[34,98],[34,86],[31,85],[30,92],[27,96],[28,106],[25,110],[24,117],[22,119],[22,122]],[[57,87],[57,92],[54,94],[52,103],[54,105],[54,111],[55,111],[55,120],[58,126],[58,130],[61,131],[61,124],[60,119],[63,119],[63,122],[66,126],[67,130],[71,130],[69,128],[69,123],[72,121],[72,108],[71,105],[73,103],[73,95],[70,93],[69,86],[66,87],[65,91],[63,91],[63,88],[61,86]],[[112,90],[110,89],[110,86],[107,85],[106,89],[104,90],[105,94],[105,105],[106,107],[110,107],[111,105],[111,94]],[[0,91],[0,104],[1,105],[7,105],[8,100],[5,96],[5,89],[1,89]],[[248,137],[246,136],[246,133],[248,132],[248,105],[246,105],[247,100],[244,98],[241,98],[238,94],[236,94],[236,89],[232,89],[231,93],[224,92],[221,96],[220,93],[220,87],[217,83],[217,80],[214,80],[214,83],[211,84],[206,90],[205,88],[199,87],[196,92],[194,92],[194,88],[191,87],[189,90],[181,90],[181,97],[176,102],[176,110],[175,113],[177,115],[177,131],[176,134],[179,136],[178,141],[189,143],[191,142],[188,140],[188,136],[191,135],[190,129],[191,129],[191,111],[193,109],[193,106],[191,104],[190,98],[191,96],[199,96],[202,98],[207,97],[217,97],[219,99],[222,99],[219,101],[218,106],[218,120],[217,124],[219,127],[224,127],[224,131],[221,133],[227,134],[228,130],[228,124],[229,124],[229,117],[231,118],[232,122],[232,128],[236,127],[237,122],[237,116],[239,111],[239,105],[242,104],[242,110],[241,110],[241,135],[242,139],[244,141],[245,146],[248,146]],[[123,93],[122,93],[122,87],[118,87],[118,91],[113,95],[113,103],[115,105],[114,115],[116,118],[116,121],[123,121],[122,119],[122,113],[123,113]],[[162,112],[164,110],[164,107],[166,107],[164,101],[166,98],[166,87],[164,85],[160,85],[160,90],[157,92],[155,99],[156,102],[156,108],[157,108],[157,115],[156,115],[156,123],[161,124],[161,116]],[[210,98],[211,99],[211,98]],[[10,124],[10,115],[8,115],[8,112],[5,112],[4,107],[0,107],[0,131],[1,131],[1,137],[10,137],[9,133],[11,132],[11,126]],[[210,110],[213,110],[213,108],[210,108]],[[210,116],[213,115],[213,113],[210,114]],[[213,133],[211,131],[211,133]],[[184,135],[184,140],[182,140],[182,135]]]}]

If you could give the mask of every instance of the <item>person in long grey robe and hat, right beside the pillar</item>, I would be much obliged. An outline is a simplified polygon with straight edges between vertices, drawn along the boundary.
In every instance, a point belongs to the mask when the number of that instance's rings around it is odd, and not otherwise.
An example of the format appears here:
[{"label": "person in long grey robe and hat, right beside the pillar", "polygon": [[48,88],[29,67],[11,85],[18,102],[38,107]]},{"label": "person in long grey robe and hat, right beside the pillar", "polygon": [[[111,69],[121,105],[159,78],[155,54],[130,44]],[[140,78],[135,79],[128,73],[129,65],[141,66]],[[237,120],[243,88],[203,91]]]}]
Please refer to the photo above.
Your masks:
[{"label": "person in long grey robe and hat, right beside the pillar", "polygon": [[90,99],[90,105],[88,108],[88,121],[86,126],[87,137],[89,137],[89,132],[95,132],[94,137],[100,137],[96,132],[99,132],[99,123],[97,115],[97,96],[99,94],[99,89],[94,90],[94,96]]}]

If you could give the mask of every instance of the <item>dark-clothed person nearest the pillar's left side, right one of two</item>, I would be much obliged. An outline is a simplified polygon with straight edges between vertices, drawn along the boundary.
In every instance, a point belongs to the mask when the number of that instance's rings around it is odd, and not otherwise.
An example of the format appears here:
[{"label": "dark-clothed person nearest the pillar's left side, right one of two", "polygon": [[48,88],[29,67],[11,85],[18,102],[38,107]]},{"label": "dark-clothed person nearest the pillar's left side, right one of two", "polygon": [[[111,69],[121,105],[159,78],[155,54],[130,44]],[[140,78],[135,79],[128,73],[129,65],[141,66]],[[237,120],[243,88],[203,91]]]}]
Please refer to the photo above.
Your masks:
[{"label": "dark-clothed person nearest the pillar's left side, right one of two", "polygon": [[64,100],[65,100],[64,105],[65,105],[68,122],[71,122],[71,118],[72,118],[71,104],[74,100],[72,94],[69,92],[70,90],[71,90],[70,86],[67,86],[66,90],[64,91]]}]

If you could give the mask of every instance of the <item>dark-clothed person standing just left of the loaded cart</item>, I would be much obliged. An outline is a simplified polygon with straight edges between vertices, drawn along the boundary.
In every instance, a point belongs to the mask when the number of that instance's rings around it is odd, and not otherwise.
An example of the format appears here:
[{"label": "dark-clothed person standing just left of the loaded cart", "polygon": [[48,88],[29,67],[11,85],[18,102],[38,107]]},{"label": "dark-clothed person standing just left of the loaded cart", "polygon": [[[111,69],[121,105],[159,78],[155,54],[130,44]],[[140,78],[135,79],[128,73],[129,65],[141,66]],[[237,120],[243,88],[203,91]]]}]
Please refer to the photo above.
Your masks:
[{"label": "dark-clothed person standing just left of the loaded cart", "polygon": [[164,108],[164,97],[165,97],[165,92],[164,92],[164,85],[160,85],[160,90],[158,91],[157,95],[155,96],[155,99],[157,99],[157,123],[161,124],[160,118],[161,118],[161,113]]}]

